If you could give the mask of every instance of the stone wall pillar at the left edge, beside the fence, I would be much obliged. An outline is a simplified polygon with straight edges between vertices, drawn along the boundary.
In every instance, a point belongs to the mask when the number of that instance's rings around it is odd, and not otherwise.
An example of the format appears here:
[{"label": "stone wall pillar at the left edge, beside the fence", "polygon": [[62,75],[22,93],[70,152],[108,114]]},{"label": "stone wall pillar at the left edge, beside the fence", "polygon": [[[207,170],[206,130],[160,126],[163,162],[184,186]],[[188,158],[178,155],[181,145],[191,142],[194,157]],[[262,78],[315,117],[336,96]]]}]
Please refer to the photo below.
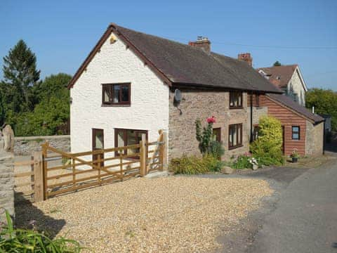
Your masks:
[{"label": "stone wall pillar at the left edge, beside the fence", "polygon": [[4,221],[6,209],[14,216],[14,167],[13,154],[0,153],[0,221]]}]

